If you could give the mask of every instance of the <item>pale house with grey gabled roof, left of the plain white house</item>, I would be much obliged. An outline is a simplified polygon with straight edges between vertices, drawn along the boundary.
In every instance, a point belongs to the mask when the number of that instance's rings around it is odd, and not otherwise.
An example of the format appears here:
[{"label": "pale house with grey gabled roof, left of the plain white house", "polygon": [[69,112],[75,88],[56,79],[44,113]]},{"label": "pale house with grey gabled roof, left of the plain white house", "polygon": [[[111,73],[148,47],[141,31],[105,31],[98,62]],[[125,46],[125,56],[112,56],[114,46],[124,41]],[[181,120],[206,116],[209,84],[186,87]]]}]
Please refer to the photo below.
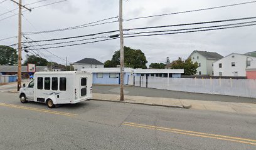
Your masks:
[{"label": "pale house with grey gabled roof, left of the plain white house", "polygon": [[196,74],[213,75],[213,63],[223,58],[223,56],[215,52],[193,51],[193,53],[190,54],[189,58],[191,58],[193,63],[198,63]]}]

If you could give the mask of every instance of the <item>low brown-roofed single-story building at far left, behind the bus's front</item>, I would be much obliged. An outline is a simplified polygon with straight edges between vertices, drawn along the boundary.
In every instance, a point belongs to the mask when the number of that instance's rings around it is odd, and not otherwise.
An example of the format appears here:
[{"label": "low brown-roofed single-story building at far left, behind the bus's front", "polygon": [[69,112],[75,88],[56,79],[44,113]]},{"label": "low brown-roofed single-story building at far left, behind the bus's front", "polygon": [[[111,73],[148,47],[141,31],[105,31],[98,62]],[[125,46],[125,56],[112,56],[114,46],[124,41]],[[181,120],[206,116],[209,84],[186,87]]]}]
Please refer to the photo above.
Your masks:
[{"label": "low brown-roofed single-story building at far left, behind the bus's front", "polygon": [[[36,72],[38,71],[50,71],[47,66],[36,66]],[[18,74],[18,66],[0,66],[0,73],[3,75],[15,75]],[[28,72],[28,66],[21,66],[21,77],[23,79],[29,78],[31,73]],[[32,73],[33,74],[33,73]]]}]

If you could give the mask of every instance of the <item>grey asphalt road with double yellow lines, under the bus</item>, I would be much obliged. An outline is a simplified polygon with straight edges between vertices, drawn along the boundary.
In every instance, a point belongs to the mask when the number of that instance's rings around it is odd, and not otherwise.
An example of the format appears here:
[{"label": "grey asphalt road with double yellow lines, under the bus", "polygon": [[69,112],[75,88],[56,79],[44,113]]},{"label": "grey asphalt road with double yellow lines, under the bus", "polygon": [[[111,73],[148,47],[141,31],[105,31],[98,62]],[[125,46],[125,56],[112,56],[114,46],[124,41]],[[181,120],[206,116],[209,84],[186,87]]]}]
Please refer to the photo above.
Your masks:
[{"label": "grey asphalt road with double yellow lines, under the bus", "polygon": [[256,117],[85,101],[55,109],[0,93],[0,149],[256,149]]}]

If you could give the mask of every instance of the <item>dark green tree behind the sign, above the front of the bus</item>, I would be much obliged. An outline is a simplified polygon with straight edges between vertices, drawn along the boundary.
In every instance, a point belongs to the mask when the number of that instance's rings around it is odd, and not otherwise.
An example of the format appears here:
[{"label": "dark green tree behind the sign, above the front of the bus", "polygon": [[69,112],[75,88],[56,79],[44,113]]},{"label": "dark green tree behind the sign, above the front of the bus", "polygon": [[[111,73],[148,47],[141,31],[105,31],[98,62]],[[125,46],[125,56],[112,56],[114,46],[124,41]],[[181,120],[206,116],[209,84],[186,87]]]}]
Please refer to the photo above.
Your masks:
[{"label": "dark green tree behind the sign, above the front of the bus", "polygon": [[47,63],[48,61],[44,58],[27,54],[23,65],[26,66],[27,64],[36,64],[36,66],[47,66]]}]

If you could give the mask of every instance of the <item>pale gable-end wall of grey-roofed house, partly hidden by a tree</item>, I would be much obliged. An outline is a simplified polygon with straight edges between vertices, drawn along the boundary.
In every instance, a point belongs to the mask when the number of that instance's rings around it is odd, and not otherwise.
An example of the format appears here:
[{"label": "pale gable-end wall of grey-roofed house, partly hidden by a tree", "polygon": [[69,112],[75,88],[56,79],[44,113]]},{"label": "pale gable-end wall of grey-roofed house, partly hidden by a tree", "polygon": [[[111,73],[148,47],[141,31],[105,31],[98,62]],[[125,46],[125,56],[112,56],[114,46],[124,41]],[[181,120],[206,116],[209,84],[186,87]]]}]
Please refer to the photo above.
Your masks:
[{"label": "pale gable-end wall of grey-roofed house, partly hidden by a tree", "polygon": [[200,71],[201,71],[201,74],[207,74],[207,69],[206,69],[207,64],[206,64],[205,56],[202,56],[201,54],[194,52],[191,54],[191,61],[193,63],[197,62],[198,65],[199,63],[201,64],[201,66],[196,69],[197,71],[196,74],[200,74]]}]

